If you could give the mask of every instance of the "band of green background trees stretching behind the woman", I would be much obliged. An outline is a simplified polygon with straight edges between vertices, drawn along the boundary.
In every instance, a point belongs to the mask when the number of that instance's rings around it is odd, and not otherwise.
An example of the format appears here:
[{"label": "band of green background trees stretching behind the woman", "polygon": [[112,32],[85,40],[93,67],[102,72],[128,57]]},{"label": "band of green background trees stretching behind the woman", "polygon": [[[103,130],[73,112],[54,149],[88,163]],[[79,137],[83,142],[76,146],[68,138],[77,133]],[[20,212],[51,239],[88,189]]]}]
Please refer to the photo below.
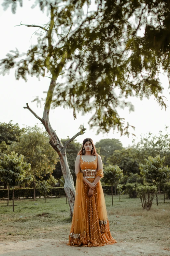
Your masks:
[{"label": "band of green background trees stretching behind the woman", "polygon": [[[68,139],[61,139],[61,141],[64,143]],[[109,138],[96,142],[95,146],[103,160],[105,177],[102,179],[102,184],[110,184],[111,188],[114,185],[115,194],[117,187],[121,194],[121,185],[126,185],[126,193],[130,197],[136,197],[137,189],[134,190],[136,184],[147,183],[157,186],[159,193],[162,190],[165,198],[166,187],[170,183],[169,133],[163,135],[160,131],[158,135],[152,133],[141,135],[140,141],[128,148],[124,148],[119,139]],[[80,147],[81,143],[74,140],[66,150],[74,182],[76,182],[74,163]],[[18,157],[22,157],[22,161],[30,165],[24,170],[25,176],[22,177],[22,182],[10,183],[4,178],[5,172],[2,171],[7,170],[7,167],[3,169],[4,161],[9,161],[11,158],[18,159]],[[15,185],[34,187],[34,200],[36,187],[41,188],[42,195],[45,195],[51,187],[60,183],[63,185],[64,178],[59,157],[51,148],[46,133],[37,125],[20,128],[12,121],[8,124],[0,123],[0,179],[1,188],[3,182],[5,189]]]}]

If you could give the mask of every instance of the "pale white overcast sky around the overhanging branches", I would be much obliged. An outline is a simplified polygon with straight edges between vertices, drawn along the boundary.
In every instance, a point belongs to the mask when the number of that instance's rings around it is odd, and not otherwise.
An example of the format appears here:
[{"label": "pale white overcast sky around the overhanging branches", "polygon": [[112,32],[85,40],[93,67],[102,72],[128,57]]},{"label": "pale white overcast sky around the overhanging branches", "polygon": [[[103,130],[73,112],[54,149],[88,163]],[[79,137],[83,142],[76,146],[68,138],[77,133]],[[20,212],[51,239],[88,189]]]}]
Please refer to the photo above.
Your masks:
[{"label": "pale white overcast sky around the overhanging branches", "polygon": [[[46,13],[41,13],[39,8],[31,9],[31,3],[34,1],[24,0],[23,8],[18,8],[16,14],[11,13],[11,9],[6,11],[0,7],[0,24],[1,24],[1,47],[0,47],[0,59],[3,59],[9,50],[15,50],[18,48],[20,52],[26,52],[31,44],[36,42],[36,36],[33,35],[35,28],[25,26],[15,26],[22,24],[45,24],[48,21]],[[0,0],[0,6],[2,0]],[[164,88],[163,95],[167,97],[167,105],[170,106],[170,90],[168,90],[169,82],[166,75],[160,74],[160,80]],[[23,126],[34,126],[36,123],[40,127],[40,121],[28,110],[23,109],[26,103],[40,116],[42,117],[42,107],[36,106],[36,103],[31,101],[36,96],[45,96],[43,91],[47,91],[49,87],[49,78],[41,78],[40,81],[36,77],[28,77],[28,81],[17,81],[15,79],[14,70],[9,75],[0,75],[0,122],[9,122],[13,120],[14,123],[19,123]],[[134,104],[135,111],[129,113],[128,109],[120,110],[120,117],[124,117],[126,122],[135,126],[135,131],[131,128],[130,132],[135,133],[136,141],[140,139],[140,134],[146,134],[149,131],[152,133],[159,133],[160,130],[164,130],[165,125],[169,126],[168,132],[170,132],[170,108],[167,110],[161,110],[154,97],[148,99],[129,98]],[[124,147],[133,145],[133,136],[120,136],[117,131],[113,133],[111,130],[108,134],[96,135],[96,129],[90,130],[88,121],[92,114],[86,114],[77,116],[77,119],[73,118],[73,111],[69,109],[57,108],[50,110],[50,123],[59,138],[72,137],[78,132],[80,125],[84,124],[87,131],[84,135],[80,135],[77,138],[78,142],[82,142],[84,138],[90,137],[94,143],[103,138],[117,138]]]}]

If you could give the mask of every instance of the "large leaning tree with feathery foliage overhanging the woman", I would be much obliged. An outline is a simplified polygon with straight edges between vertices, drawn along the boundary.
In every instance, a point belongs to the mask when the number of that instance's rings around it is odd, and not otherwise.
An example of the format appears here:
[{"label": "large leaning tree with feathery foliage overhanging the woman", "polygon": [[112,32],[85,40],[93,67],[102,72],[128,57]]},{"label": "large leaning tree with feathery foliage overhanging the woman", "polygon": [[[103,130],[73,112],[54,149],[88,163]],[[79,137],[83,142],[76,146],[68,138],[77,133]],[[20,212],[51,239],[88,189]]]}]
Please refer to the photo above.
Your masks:
[{"label": "large leaning tree with feathery foliage overhanging the woman", "polygon": [[[3,6],[12,6],[22,0],[5,0]],[[169,2],[165,1],[90,1],[37,0],[40,10],[47,10],[50,20],[45,25],[20,24],[35,27],[41,32],[37,44],[25,55],[18,49],[1,60],[1,73],[15,68],[16,79],[26,81],[27,75],[50,77],[43,117],[39,117],[50,136],[50,144],[60,157],[65,179],[64,190],[73,213],[75,189],[66,158],[66,147],[85,128],[63,145],[49,121],[50,107],[64,106],[78,112],[92,112],[90,127],[98,132],[117,128],[129,135],[129,123],[118,114],[118,108],[133,106],[128,96],[142,99],[153,95],[161,107],[166,108],[158,73],[160,67],[169,75]],[[134,18],[135,17],[135,18]],[[144,33],[138,33],[141,29]],[[163,36],[162,36],[163,35]],[[57,78],[61,76],[62,82]],[[39,100],[36,98],[35,100]]]}]

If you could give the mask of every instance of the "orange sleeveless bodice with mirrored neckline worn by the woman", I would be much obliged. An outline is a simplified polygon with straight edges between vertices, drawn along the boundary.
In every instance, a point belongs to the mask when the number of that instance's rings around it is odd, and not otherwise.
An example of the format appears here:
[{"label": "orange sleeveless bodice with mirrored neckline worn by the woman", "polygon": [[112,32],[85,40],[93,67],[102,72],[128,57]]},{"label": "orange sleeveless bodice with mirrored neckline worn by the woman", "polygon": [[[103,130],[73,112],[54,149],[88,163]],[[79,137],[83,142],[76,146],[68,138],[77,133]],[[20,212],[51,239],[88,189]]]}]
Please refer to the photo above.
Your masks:
[{"label": "orange sleeveless bodice with mirrored neckline worn by the woman", "polygon": [[80,171],[85,178],[95,178],[97,173],[97,156],[94,156],[93,160],[84,160],[83,155],[81,155]]}]

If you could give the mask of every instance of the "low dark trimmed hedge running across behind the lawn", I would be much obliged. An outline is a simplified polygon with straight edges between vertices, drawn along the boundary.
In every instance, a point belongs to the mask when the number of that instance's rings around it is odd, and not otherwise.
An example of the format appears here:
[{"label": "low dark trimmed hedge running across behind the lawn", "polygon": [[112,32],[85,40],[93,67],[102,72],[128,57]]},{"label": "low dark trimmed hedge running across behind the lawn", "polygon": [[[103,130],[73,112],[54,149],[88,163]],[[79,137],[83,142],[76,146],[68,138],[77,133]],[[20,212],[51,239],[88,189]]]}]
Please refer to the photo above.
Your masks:
[{"label": "low dark trimmed hedge running across behind the lawn", "polygon": [[[103,192],[106,195],[111,195],[111,186],[104,185]],[[114,186],[113,186],[113,193],[114,192]],[[36,188],[35,192],[36,197],[40,197],[39,189]],[[33,198],[34,196],[34,188],[16,188],[14,191],[14,197],[15,199],[19,198]],[[55,197],[61,197],[66,196],[64,187],[56,187],[52,188],[48,196],[55,196]],[[0,189],[0,199],[7,199],[7,189]],[[12,190],[9,190],[9,199],[12,199]]]}]

